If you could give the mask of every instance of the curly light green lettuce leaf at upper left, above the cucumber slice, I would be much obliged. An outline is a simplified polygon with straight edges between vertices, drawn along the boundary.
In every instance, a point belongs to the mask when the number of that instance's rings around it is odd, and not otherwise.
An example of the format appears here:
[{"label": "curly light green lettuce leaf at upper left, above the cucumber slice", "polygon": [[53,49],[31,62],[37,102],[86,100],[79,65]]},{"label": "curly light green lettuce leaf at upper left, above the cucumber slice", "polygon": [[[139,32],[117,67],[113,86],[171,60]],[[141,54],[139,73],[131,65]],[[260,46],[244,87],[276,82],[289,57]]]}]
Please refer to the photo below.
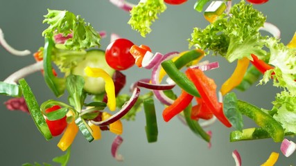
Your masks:
[{"label": "curly light green lettuce leaf at upper left, above the cucumber slice", "polygon": [[42,35],[53,37],[62,33],[67,36],[72,33],[73,37],[67,39],[64,45],[69,50],[82,50],[100,45],[100,35],[84,19],[77,17],[67,10],[48,10],[43,23],[49,24],[49,28]]}]

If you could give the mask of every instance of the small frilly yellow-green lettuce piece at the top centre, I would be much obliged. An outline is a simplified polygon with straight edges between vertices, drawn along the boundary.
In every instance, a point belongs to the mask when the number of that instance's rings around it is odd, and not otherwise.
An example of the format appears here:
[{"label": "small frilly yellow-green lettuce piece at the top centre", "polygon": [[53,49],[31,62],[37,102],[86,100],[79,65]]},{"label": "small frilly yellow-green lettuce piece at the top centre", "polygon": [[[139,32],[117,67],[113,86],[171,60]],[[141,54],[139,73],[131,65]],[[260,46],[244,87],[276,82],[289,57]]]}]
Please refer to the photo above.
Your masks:
[{"label": "small frilly yellow-green lettuce piece at the top centre", "polygon": [[128,24],[132,26],[133,30],[139,31],[142,37],[146,37],[151,32],[150,26],[164,10],[166,10],[164,0],[140,1],[130,10],[131,17]]}]

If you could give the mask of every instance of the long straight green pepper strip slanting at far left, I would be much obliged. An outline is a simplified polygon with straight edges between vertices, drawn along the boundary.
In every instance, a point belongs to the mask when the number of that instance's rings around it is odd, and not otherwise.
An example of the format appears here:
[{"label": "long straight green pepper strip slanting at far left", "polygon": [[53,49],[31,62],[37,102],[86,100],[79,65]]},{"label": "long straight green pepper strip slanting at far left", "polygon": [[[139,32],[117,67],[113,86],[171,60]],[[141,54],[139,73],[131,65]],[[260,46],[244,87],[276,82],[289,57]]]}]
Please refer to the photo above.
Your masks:
[{"label": "long straight green pepper strip slanting at far left", "polygon": [[46,124],[46,121],[42,115],[42,111],[40,110],[39,104],[37,103],[37,100],[35,99],[30,86],[28,86],[28,83],[26,82],[26,80],[24,80],[24,78],[19,80],[19,84],[21,86],[21,91],[24,95],[26,104],[28,106],[28,110],[30,111],[37,128],[46,140],[50,140],[51,138],[53,138],[53,136],[51,135],[49,126]]}]

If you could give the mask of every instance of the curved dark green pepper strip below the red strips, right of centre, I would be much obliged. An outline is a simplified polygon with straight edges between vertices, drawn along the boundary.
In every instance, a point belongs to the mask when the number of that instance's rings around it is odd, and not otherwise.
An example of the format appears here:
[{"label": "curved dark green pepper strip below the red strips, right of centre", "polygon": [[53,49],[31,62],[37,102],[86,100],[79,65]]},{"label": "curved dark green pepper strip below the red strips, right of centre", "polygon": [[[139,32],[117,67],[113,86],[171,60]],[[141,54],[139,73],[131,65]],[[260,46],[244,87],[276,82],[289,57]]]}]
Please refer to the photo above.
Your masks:
[{"label": "curved dark green pepper strip below the red strips, right of centre", "polygon": [[191,119],[191,104],[189,104],[186,109],[184,109],[184,117],[186,120],[186,123],[188,124],[189,128],[195,133],[197,136],[200,136],[203,138],[205,141],[209,142],[211,137],[207,132],[205,132],[202,127],[200,127],[200,124],[198,123],[197,120],[192,120]]}]

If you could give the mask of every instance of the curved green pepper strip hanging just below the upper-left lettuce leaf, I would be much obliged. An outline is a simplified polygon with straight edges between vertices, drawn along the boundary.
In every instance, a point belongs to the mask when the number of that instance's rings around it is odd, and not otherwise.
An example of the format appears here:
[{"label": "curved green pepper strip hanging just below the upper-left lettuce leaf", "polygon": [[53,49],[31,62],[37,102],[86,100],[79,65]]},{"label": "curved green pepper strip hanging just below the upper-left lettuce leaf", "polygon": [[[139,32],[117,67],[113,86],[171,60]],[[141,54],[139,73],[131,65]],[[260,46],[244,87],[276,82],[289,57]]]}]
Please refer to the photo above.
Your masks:
[{"label": "curved green pepper strip hanging just below the upper-left lettuce leaf", "polygon": [[53,51],[53,47],[53,39],[51,39],[51,37],[45,37],[43,50],[44,80],[55,96],[60,97],[64,93],[64,89],[66,89],[66,79],[62,77],[55,77],[53,75],[51,66],[51,53]]}]

